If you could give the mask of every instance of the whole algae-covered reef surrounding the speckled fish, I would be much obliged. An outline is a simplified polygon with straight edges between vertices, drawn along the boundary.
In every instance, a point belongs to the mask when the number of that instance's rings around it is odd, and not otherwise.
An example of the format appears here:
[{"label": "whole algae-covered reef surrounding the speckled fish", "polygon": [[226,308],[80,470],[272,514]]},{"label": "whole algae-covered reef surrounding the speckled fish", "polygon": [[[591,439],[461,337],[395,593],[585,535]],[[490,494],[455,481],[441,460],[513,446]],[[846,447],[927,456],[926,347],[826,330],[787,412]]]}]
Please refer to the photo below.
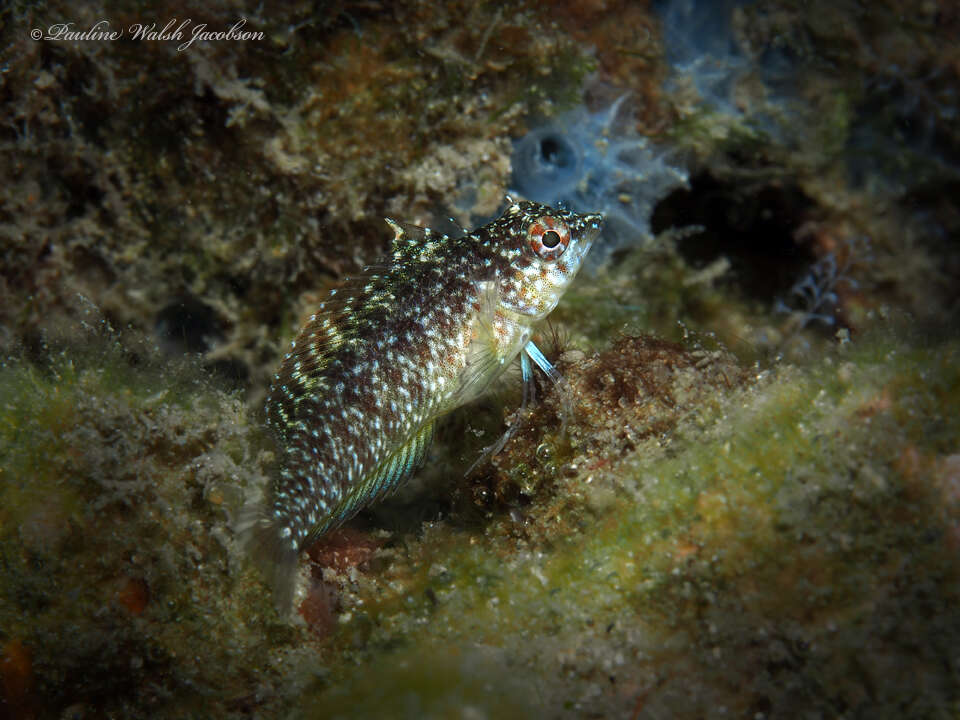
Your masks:
[{"label": "whole algae-covered reef surrounding the speckled fish", "polygon": [[[958,88],[950,0],[5,4],[0,720],[960,717]],[[507,195],[607,217],[566,383],[283,619],[283,352]]]}]

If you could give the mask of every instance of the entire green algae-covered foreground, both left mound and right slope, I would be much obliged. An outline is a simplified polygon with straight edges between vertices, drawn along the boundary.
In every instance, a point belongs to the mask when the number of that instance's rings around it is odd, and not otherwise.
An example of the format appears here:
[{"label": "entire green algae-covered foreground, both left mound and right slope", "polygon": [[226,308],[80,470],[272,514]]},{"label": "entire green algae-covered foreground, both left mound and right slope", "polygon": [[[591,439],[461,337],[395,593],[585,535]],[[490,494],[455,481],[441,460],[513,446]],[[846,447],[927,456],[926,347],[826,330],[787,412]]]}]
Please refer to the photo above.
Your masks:
[{"label": "entire green algae-covered foreground, both left mound and right slope", "polygon": [[[52,346],[0,371],[0,641],[30,649],[51,708],[894,717],[956,702],[955,341],[878,326],[746,382],[729,358],[649,338],[570,361],[569,388],[602,368],[626,387],[633,358],[675,420],[587,442],[602,418],[646,422],[601,394],[574,403],[564,445],[534,408],[495,461],[524,502],[382,533],[360,564],[305,562],[308,594],[321,577],[335,591],[323,628],[280,621],[237,555],[225,508],[269,472],[243,405],[108,331]],[[682,387],[698,390],[681,402]],[[904,663],[924,693],[890,678]]]}]

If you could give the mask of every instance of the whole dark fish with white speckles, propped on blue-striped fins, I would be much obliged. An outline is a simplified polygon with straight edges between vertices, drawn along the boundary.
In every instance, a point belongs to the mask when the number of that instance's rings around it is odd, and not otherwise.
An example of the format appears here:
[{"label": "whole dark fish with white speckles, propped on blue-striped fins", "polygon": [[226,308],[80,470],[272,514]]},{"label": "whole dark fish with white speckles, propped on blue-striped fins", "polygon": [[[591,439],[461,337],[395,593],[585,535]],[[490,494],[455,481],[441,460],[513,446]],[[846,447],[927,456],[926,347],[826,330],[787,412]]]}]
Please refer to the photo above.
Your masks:
[{"label": "whole dark fish with white speckles, propped on blue-striped fins", "polygon": [[267,398],[280,470],[241,521],[289,612],[300,551],[395,490],[424,461],[437,421],[518,355],[557,376],[531,341],[580,269],[602,216],[511,202],[460,237],[387,223],[392,254],[331,291],[283,359]]}]

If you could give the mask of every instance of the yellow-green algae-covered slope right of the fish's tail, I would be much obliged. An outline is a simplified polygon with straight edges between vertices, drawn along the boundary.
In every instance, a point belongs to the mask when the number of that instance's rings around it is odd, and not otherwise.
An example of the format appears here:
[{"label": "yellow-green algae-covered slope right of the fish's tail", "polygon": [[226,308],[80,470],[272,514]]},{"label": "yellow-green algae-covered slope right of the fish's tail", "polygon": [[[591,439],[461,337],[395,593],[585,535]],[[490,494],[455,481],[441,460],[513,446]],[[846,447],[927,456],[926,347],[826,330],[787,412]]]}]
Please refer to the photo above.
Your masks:
[{"label": "yellow-green algae-covered slope right of the fish's tail", "polygon": [[[918,489],[897,468],[917,443],[937,452],[941,433],[958,436],[950,407],[960,399],[960,348],[881,335],[813,367],[766,374],[678,431],[669,453],[646,447],[581,474],[569,486],[606,485],[612,499],[602,513],[574,504],[580,529],[546,545],[511,546],[506,521],[483,538],[427,529],[385,570],[374,602],[360,591],[343,638],[355,641],[359,612],[374,628],[368,647],[399,643],[406,662],[426,662],[438,645],[502,648],[548,715],[628,712],[624,685],[633,702],[645,697],[641,716],[715,703],[735,715],[846,707],[895,716],[955,701],[934,658],[949,663],[960,633],[948,542],[956,516],[934,513],[943,486]],[[878,396],[886,399],[874,411]],[[918,577],[927,587],[904,592]],[[884,634],[890,622],[919,635]],[[946,696],[918,698],[886,681],[861,656],[872,633],[883,663],[907,662],[925,644],[922,672]],[[616,657],[605,677],[600,668]],[[554,679],[568,665],[576,680]],[[682,693],[691,672],[696,688]],[[364,707],[367,682],[348,673],[329,696]],[[407,690],[427,705],[445,697],[442,687]]]}]

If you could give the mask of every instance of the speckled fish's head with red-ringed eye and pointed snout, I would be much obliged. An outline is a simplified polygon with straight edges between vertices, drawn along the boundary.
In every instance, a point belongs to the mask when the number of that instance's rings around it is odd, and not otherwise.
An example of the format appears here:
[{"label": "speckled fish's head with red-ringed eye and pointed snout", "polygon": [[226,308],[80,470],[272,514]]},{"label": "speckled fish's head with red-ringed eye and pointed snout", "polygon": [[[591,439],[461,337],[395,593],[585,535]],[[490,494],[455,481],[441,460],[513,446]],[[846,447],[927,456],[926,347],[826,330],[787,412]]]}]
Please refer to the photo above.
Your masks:
[{"label": "speckled fish's head with red-ringed eye and pointed snout", "polygon": [[518,202],[507,208],[501,223],[509,264],[498,278],[500,307],[540,320],[553,311],[580,270],[603,216]]}]

